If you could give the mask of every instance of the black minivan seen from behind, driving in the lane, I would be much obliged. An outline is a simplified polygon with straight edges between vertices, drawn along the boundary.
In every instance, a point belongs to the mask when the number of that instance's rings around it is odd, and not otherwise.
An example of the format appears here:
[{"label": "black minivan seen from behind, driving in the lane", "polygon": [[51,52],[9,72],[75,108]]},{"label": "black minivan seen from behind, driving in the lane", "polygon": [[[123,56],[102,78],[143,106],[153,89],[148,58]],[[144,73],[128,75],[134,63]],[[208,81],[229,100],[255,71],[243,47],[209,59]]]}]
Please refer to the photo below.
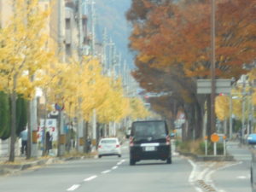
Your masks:
[{"label": "black minivan seen from behind, driving in the lane", "polygon": [[139,160],[172,163],[171,140],[165,120],[135,121],[131,125],[130,165]]}]

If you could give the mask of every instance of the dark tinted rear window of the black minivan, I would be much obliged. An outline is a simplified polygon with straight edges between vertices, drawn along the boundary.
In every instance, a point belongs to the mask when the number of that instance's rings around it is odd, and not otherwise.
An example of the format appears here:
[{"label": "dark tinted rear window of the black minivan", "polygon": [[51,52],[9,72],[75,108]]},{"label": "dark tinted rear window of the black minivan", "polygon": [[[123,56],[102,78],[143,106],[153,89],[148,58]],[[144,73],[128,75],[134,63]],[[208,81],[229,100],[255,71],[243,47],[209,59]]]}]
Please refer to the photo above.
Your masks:
[{"label": "dark tinted rear window of the black minivan", "polygon": [[131,135],[137,138],[164,138],[167,135],[166,124],[164,121],[134,122]]}]

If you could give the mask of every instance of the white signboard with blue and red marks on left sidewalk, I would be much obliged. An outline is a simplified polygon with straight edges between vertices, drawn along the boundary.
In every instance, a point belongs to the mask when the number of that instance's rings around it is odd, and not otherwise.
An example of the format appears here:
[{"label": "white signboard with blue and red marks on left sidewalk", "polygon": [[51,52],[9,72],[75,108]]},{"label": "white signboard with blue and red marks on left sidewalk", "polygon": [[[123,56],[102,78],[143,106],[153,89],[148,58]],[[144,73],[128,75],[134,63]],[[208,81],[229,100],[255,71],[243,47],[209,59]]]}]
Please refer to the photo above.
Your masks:
[{"label": "white signboard with blue and red marks on left sidewalk", "polygon": [[[53,141],[58,139],[57,120],[46,119],[46,131],[49,131],[49,135],[52,136]],[[44,139],[44,119],[40,119],[40,125],[38,127],[38,142],[42,142]]]}]

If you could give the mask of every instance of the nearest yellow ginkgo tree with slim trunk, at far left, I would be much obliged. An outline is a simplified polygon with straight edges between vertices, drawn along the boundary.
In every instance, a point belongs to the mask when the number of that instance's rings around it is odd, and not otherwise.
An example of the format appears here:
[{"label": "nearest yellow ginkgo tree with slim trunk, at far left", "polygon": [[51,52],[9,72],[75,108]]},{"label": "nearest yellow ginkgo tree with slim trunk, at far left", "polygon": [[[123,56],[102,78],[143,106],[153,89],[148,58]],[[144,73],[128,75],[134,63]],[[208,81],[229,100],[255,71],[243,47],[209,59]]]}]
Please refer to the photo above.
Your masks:
[{"label": "nearest yellow ginkgo tree with slim trunk, at far left", "polygon": [[50,53],[44,26],[49,10],[41,10],[38,0],[13,3],[13,15],[0,30],[0,88],[11,98],[11,144],[9,160],[15,160],[15,115],[17,94],[32,98],[33,75],[44,68]]}]

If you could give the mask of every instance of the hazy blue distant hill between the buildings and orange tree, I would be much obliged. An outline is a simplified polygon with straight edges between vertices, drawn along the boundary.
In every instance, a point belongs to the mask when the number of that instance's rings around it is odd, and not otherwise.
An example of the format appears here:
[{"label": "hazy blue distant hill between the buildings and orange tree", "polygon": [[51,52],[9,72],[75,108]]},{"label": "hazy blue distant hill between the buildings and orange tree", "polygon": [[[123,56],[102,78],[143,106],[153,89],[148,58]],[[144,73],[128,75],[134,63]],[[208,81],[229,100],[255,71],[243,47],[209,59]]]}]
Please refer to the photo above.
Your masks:
[{"label": "hazy blue distant hill between the buildings and orange tree", "polygon": [[113,39],[122,57],[129,67],[134,67],[132,53],[128,48],[131,25],[125,19],[125,13],[131,7],[131,0],[95,0],[96,1],[96,37],[102,41],[102,33],[107,28],[108,37]]}]

